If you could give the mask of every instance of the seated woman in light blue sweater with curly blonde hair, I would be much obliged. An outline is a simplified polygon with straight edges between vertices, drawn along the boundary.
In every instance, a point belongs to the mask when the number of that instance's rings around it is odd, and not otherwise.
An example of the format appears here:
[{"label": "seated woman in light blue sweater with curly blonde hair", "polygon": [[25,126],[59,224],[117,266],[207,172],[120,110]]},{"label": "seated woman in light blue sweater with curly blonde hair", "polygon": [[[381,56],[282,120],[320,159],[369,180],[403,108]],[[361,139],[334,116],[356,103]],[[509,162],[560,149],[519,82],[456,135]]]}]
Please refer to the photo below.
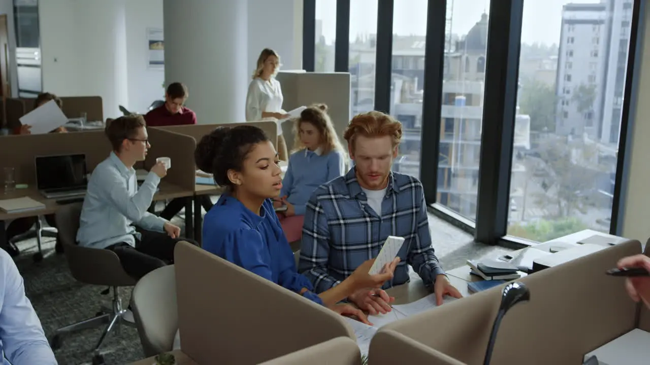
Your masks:
[{"label": "seated woman in light blue sweater with curly blonde hair", "polygon": [[276,208],[286,206],[278,216],[289,242],[300,240],[305,205],[311,193],[343,176],[346,166],[346,153],[327,114],[327,105],[312,105],[303,110],[294,134],[294,152],[289,157],[280,197],[274,203]]}]

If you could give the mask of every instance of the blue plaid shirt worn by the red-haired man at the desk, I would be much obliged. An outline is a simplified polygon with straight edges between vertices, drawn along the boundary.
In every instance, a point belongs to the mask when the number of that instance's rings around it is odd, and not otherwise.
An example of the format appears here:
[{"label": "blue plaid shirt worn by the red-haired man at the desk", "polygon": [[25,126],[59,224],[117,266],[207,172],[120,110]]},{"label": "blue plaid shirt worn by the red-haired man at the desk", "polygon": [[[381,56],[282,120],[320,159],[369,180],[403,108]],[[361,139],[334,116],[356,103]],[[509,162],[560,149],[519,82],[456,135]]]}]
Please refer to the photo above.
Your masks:
[{"label": "blue plaid shirt worn by the red-haired man at the desk", "polygon": [[365,260],[377,257],[388,236],[404,237],[401,261],[393,280],[383,288],[409,281],[413,266],[424,284],[444,274],[434,248],[422,184],[415,177],[391,172],[382,214],[367,202],[355,169],[319,186],[311,195],[302,229],[298,271],[311,280],[317,293],[341,283]]}]

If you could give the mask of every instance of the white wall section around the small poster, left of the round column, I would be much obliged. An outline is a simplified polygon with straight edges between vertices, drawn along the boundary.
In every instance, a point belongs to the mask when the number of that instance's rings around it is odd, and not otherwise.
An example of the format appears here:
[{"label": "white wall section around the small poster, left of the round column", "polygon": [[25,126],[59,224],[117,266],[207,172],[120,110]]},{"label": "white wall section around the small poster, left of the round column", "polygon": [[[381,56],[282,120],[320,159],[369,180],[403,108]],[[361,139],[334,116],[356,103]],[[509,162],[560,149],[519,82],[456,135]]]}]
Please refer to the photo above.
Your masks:
[{"label": "white wall section around the small poster, left of the round column", "polygon": [[[164,99],[164,69],[148,68],[147,29],[162,29],[162,0],[130,0],[126,6],[126,42],[131,112],[145,113]],[[191,95],[191,90],[190,90]]]}]

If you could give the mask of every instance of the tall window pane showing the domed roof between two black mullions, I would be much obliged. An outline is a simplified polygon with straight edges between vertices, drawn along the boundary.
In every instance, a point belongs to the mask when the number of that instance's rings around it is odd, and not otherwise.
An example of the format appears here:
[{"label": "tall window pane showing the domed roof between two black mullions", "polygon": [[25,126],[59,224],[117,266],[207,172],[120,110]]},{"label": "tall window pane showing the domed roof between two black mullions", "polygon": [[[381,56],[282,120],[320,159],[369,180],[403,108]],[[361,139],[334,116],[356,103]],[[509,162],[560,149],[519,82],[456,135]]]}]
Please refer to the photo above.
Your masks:
[{"label": "tall window pane showing the domed roof between two black mullions", "polygon": [[[437,202],[474,220],[483,115],[487,8],[447,3]],[[434,123],[434,121],[431,121]]]}]

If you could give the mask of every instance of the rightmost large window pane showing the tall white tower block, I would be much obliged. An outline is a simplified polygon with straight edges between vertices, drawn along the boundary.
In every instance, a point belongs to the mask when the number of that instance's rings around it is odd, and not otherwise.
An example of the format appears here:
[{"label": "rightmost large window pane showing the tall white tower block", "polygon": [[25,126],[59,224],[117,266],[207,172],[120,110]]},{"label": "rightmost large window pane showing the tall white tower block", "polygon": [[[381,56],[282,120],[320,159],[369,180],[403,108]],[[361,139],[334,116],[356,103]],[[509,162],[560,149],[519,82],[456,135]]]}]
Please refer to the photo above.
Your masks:
[{"label": "rightmost large window pane showing the tall white tower block", "polygon": [[610,231],[632,20],[632,0],[556,3],[526,2],[521,32],[508,234],[538,242]]}]

